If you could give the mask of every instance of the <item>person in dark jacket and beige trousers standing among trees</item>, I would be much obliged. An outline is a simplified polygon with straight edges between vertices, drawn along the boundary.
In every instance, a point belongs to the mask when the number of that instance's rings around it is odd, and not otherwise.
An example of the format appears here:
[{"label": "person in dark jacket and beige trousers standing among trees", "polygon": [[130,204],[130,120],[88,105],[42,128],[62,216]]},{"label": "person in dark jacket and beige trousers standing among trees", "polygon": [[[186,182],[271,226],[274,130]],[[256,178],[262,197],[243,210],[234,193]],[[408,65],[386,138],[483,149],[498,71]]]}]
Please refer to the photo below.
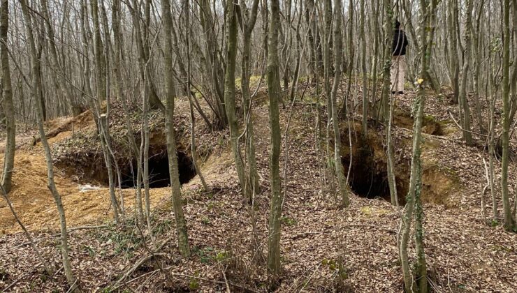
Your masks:
[{"label": "person in dark jacket and beige trousers standing among trees", "polygon": [[393,45],[391,46],[391,93],[404,93],[406,75],[406,33],[400,29],[400,22],[395,20],[393,31]]}]

